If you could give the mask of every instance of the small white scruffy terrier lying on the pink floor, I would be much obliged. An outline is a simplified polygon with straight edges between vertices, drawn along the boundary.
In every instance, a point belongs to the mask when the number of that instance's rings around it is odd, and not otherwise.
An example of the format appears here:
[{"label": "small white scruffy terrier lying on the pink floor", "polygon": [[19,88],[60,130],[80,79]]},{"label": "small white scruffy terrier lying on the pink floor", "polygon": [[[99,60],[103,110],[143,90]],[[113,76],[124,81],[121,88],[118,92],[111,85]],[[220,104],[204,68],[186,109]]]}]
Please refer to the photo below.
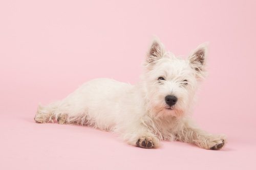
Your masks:
[{"label": "small white scruffy terrier lying on the pink floor", "polygon": [[65,99],[38,106],[36,123],[87,125],[112,131],[131,145],[157,148],[160,140],[179,140],[219,150],[225,136],[199,129],[189,116],[199,81],[205,75],[207,45],[187,59],[165,52],[154,40],[136,85],[112,79],[84,83]]}]

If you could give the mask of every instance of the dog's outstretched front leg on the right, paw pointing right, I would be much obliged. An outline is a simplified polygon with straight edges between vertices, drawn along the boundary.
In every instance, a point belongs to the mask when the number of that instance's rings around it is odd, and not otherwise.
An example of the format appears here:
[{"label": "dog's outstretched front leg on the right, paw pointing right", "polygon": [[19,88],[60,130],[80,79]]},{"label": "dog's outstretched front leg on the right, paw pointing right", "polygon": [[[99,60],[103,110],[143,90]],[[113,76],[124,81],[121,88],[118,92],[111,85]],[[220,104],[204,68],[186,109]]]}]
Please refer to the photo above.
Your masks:
[{"label": "dog's outstretched front leg on the right, paw pointing right", "polygon": [[183,128],[176,136],[180,141],[193,143],[198,145],[200,148],[208,150],[220,150],[226,142],[224,135],[210,134],[190,122],[184,123]]}]

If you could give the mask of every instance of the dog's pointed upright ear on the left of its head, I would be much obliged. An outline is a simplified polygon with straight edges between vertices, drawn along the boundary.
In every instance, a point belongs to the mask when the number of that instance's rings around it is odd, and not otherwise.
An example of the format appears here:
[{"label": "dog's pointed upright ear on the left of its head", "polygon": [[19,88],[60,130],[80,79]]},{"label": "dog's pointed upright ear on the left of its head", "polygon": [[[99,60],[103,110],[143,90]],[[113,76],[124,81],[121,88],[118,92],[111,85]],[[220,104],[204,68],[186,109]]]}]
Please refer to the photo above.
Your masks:
[{"label": "dog's pointed upright ear on the left of its head", "polygon": [[162,58],[163,55],[164,55],[163,44],[159,40],[154,39],[150,46],[150,50],[148,50],[146,62],[147,64],[154,64],[157,60]]}]

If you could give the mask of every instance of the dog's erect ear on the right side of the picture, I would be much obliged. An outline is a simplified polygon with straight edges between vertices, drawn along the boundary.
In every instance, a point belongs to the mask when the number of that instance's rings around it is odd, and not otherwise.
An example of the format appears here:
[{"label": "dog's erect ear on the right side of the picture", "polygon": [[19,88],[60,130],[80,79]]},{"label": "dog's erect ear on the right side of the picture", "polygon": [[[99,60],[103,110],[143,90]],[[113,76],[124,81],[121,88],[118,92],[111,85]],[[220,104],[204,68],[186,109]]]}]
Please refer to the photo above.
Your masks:
[{"label": "dog's erect ear on the right side of the picture", "polygon": [[188,57],[190,66],[196,71],[197,78],[206,75],[206,58],[208,53],[208,42],[199,45]]}]

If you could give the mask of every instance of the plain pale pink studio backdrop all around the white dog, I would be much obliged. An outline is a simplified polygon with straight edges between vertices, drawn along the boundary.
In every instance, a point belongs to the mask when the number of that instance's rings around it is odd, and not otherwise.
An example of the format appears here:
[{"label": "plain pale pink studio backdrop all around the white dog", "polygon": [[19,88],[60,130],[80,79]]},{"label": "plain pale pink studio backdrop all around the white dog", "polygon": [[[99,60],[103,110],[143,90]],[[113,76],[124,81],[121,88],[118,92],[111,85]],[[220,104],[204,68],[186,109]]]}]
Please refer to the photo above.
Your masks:
[{"label": "plain pale pink studio backdrop all around the white dog", "polygon": [[[255,1],[1,1],[0,169],[255,169]],[[88,127],[35,124],[37,104],[92,78],[135,83],[153,35],[186,56],[209,41],[194,118],[222,151],[130,147]]]}]

